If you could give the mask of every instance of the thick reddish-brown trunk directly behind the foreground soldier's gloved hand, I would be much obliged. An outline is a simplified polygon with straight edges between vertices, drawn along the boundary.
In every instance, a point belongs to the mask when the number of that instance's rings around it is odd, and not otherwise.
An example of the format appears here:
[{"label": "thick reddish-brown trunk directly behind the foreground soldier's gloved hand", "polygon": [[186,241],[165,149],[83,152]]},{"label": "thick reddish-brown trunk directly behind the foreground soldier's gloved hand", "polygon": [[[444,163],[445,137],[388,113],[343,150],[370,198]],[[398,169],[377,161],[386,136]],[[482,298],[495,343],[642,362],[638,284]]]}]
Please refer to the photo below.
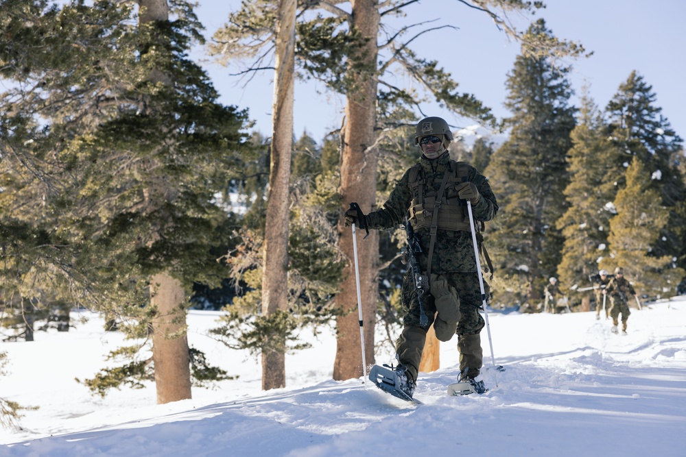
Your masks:
[{"label": "thick reddish-brown trunk directly behind the foreground soldier's gloved hand", "polygon": [[[359,203],[364,213],[375,206],[377,182],[377,149],[374,126],[377,101],[377,34],[379,11],[377,0],[353,0],[352,27],[368,42],[357,56],[351,57],[349,71],[362,63],[366,71],[357,75],[357,89],[348,92],[346,122],[343,128],[343,153],[341,163],[341,194],[343,201]],[[359,67],[358,67],[359,68]],[[353,256],[353,235],[349,228],[339,225],[340,249]],[[364,232],[362,232],[364,233]],[[379,236],[370,232],[366,240],[358,238],[359,286],[364,322],[364,354],[368,364],[374,363],[374,326],[377,306],[377,273]],[[348,314],[338,318],[338,345],[333,366],[333,379],[348,380],[362,375],[362,346],[359,338],[357,314],[357,291],[355,266],[351,261],[344,272],[342,291],[336,295],[336,304]]]}]

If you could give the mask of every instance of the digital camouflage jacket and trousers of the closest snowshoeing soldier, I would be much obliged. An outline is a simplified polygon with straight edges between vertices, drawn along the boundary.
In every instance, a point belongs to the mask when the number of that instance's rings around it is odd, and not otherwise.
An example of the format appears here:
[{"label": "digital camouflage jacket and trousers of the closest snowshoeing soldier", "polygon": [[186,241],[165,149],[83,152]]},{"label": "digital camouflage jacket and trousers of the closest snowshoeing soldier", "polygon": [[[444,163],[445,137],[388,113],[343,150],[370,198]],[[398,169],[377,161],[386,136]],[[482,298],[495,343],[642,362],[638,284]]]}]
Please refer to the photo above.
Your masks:
[{"label": "digital camouflage jacket and trousers of the closest snowshoeing soldier", "polygon": [[[423,175],[432,178],[427,180],[427,186],[424,189],[425,194],[437,193],[444,173],[452,173],[449,167],[457,166],[457,162],[450,160],[447,152],[436,160],[427,160],[422,157],[419,163],[422,166]],[[484,175],[478,173],[473,166],[467,166],[469,167],[468,180],[477,186],[481,195],[479,202],[472,208],[474,218],[477,221],[490,221],[498,211],[493,190],[491,190]],[[395,186],[388,201],[383,204],[383,208],[366,215],[368,228],[390,229],[404,222],[412,201],[417,197],[414,194],[417,190],[416,186],[414,186],[414,190],[413,186],[410,186],[410,170],[405,172],[405,175]],[[448,196],[453,194],[455,197],[456,190],[453,186],[453,188],[446,188],[445,193]],[[466,203],[464,206],[466,212]],[[427,271],[431,241],[430,230],[429,227],[414,227],[414,232],[422,247],[422,252],[417,253],[418,262],[425,272]],[[482,348],[478,334],[484,328],[485,323],[479,312],[482,306],[482,297],[471,231],[437,230],[431,260],[431,276],[434,277],[434,274],[442,275],[449,287],[456,291],[460,317],[454,333],[464,336],[461,345],[458,343],[460,371],[473,378],[479,374],[483,365]],[[490,297],[490,288],[485,281],[484,291],[486,291],[486,297]],[[416,380],[426,332],[431,323],[434,322],[436,304],[433,296],[429,294],[425,296],[424,308],[429,324],[426,328],[422,328],[419,324],[419,301],[414,288],[414,281],[410,275],[405,275],[403,280],[402,302],[406,311],[405,317],[403,317],[405,328],[397,341],[396,349],[399,361],[407,367],[408,372]]]}]

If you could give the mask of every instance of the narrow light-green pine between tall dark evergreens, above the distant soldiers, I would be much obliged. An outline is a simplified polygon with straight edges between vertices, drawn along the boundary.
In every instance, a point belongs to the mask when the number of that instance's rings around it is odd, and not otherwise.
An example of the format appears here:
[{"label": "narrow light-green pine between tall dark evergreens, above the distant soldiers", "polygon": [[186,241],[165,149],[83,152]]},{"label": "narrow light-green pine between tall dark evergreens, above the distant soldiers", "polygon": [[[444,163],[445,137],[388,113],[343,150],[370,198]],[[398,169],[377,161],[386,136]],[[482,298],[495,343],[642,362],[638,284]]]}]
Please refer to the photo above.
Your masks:
[{"label": "narrow light-green pine between tall dark evergreens, above the distant soldiers", "polygon": [[[569,208],[557,221],[565,237],[558,277],[568,286],[586,286],[606,255],[609,221],[617,186],[611,172],[617,147],[608,138],[607,125],[587,92],[582,97],[579,123],[571,132],[573,147],[567,157]],[[580,297],[578,297],[580,299]]]}]

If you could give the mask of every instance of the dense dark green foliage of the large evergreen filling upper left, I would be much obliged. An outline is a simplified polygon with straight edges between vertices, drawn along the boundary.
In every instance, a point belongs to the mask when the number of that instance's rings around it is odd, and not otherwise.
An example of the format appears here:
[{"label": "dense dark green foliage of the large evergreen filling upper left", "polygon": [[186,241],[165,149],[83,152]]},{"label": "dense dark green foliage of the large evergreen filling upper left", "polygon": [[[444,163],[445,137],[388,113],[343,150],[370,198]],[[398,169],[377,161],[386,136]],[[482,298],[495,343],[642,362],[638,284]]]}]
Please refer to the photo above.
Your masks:
[{"label": "dense dark green foliage of the large evergreen filling upper left", "polygon": [[188,59],[202,40],[191,5],[169,10],[170,21],[139,27],[131,5],[110,2],[0,12],[2,77],[13,82],[0,96],[0,223],[44,238],[5,262],[11,293],[64,296],[138,337],[155,313],[150,276],[170,272],[190,291],[226,274],[212,254],[228,220],[216,196],[249,152],[246,112],[217,103]]}]

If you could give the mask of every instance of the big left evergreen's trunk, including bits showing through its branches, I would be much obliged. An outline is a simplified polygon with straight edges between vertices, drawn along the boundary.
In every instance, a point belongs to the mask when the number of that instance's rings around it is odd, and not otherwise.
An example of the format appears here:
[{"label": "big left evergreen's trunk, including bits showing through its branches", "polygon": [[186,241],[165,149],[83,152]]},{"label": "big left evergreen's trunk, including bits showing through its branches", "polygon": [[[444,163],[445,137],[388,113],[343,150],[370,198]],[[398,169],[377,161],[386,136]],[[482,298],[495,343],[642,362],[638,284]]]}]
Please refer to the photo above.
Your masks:
[{"label": "big left evergreen's trunk, including bits showing through its branches", "polygon": [[[169,20],[167,0],[138,0],[141,7],[139,23]],[[171,84],[161,70],[154,70],[150,79]],[[174,183],[165,182],[164,186]],[[152,189],[150,195],[173,198],[174,192]],[[154,205],[154,203],[153,203]],[[185,291],[169,273],[154,275],[150,281],[150,305],[157,308],[152,323],[152,359],[155,367],[157,403],[164,404],[191,398],[191,369],[186,336]]]}]

